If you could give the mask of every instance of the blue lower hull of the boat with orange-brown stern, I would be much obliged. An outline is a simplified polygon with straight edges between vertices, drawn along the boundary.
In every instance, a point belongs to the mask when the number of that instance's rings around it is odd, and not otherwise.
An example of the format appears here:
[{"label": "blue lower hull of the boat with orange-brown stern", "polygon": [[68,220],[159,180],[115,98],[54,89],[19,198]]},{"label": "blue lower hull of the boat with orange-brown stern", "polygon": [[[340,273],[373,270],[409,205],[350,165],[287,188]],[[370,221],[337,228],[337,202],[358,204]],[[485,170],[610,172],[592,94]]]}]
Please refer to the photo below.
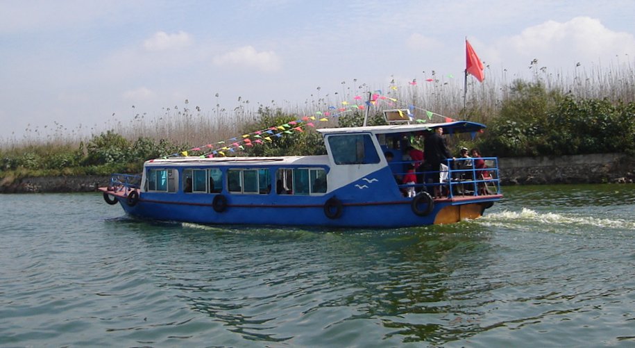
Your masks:
[{"label": "blue lower hull of the boat with orange-brown stern", "polygon": [[[407,227],[431,224],[450,224],[464,219],[482,216],[500,194],[452,199],[434,200],[434,208],[427,215],[417,215],[412,207],[412,199],[378,202],[341,201],[335,207],[339,214],[328,214],[325,203],[316,197],[305,197],[298,202],[297,197],[281,197],[276,203],[266,201],[246,201],[248,197],[226,196],[223,211],[214,209],[213,196],[196,201],[183,201],[173,194],[146,194],[139,192],[137,201],[130,202],[130,192],[109,191],[116,197],[128,215],[143,219],[192,222],[197,224],[250,224],[273,226],[328,226],[328,227]],[[288,201],[285,202],[285,198]],[[133,204],[130,204],[133,203]],[[331,207],[333,208],[333,207]],[[330,217],[328,216],[330,215]],[[337,215],[337,216],[334,216]]]}]

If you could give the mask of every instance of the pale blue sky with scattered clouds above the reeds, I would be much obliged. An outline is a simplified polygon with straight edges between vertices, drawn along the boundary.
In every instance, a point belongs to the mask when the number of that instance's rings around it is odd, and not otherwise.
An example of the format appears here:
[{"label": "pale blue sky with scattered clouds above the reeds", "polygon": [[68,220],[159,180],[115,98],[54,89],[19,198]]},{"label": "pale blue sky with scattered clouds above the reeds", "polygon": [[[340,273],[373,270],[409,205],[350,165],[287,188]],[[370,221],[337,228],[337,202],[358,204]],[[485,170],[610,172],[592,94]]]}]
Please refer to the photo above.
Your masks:
[{"label": "pale blue sky with scattered clouds above the reeds", "polygon": [[0,0],[0,140],[101,131],[186,99],[212,117],[239,98],[302,104],[433,70],[462,83],[465,38],[484,83],[534,59],[633,67],[634,13],[633,0]]}]

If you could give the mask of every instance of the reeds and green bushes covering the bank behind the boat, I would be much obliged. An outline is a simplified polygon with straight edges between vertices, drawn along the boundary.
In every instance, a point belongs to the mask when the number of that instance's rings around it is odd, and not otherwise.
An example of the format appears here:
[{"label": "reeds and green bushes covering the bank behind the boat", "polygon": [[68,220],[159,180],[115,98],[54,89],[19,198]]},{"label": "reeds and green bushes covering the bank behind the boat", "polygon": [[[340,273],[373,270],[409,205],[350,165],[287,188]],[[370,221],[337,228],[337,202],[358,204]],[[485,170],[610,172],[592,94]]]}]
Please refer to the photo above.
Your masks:
[{"label": "reeds and green bushes covering the bank behind the boat", "polygon": [[[459,83],[459,79],[451,76],[432,72],[433,78],[420,83],[391,83],[380,93],[394,102],[372,106],[369,125],[384,124],[384,109],[409,108],[420,119],[418,122],[443,122],[447,116],[486,124],[485,132],[475,139],[469,135],[448,137],[450,149],[478,147],[484,156],[635,153],[635,67],[628,63],[619,68],[594,67],[587,72],[577,66],[575,74],[568,76],[552,74],[534,60],[530,69],[533,69],[530,81],[505,82],[505,71],[502,78],[488,74],[489,81],[471,81],[466,108],[462,81]],[[341,91],[335,93],[323,93],[320,87],[316,88],[316,93],[301,106],[292,106],[288,101],[284,105],[271,101],[270,106],[260,103],[253,106],[238,97],[234,108],[217,103],[205,112],[186,99],[184,106],[163,108],[162,114],[155,117],[135,114],[133,106],[135,115],[128,123],[113,118],[90,130],[80,125],[69,131],[57,122],[50,128],[35,126],[26,129],[20,139],[0,140],[0,186],[26,177],[139,173],[145,160],[240,138],[316,114],[328,119],[316,122],[317,127],[359,126],[366,114],[368,90],[373,88],[353,79],[352,83],[342,81]],[[346,104],[361,108],[341,108]],[[329,115],[328,111],[336,109],[335,106],[346,111]],[[246,147],[228,156],[323,153],[319,133],[305,127],[305,131],[273,137],[266,144]]]}]

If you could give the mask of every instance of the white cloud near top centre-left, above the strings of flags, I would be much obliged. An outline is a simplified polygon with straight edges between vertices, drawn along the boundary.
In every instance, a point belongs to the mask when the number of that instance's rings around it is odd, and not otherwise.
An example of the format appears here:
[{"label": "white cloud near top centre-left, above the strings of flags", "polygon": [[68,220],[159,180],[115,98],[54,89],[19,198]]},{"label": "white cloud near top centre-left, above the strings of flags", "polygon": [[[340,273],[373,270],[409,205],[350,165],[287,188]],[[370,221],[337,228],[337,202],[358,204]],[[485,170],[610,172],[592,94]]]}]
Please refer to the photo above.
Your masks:
[{"label": "white cloud near top centre-left, above the strings of flags", "polygon": [[280,58],[276,52],[258,52],[251,46],[241,47],[235,51],[216,56],[212,59],[215,65],[233,65],[238,67],[250,67],[263,72],[275,72],[280,70]]}]

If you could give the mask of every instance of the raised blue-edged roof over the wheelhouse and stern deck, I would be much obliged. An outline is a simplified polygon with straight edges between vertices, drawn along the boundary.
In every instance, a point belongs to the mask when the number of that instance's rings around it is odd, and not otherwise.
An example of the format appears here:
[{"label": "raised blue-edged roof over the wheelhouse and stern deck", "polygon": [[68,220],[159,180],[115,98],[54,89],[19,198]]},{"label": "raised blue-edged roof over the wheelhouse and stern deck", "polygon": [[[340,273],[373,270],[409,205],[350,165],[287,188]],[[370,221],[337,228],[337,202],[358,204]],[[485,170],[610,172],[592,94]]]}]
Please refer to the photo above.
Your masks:
[{"label": "raised blue-edged roof over the wheelhouse and stern deck", "polygon": [[422,123],[422,124],[389,124],[387,126],[362,126],[362,127],[342,127],[317,129],[322,134],[335,133],[360,133],[371,132],[375,134],[389,133],[409,133],[418,131],[429,131],[433,128],[443,127],[445,133],[468,133],[480,131],[485,128],[484,124],[469,121],[455,121],[443,123]]}]

